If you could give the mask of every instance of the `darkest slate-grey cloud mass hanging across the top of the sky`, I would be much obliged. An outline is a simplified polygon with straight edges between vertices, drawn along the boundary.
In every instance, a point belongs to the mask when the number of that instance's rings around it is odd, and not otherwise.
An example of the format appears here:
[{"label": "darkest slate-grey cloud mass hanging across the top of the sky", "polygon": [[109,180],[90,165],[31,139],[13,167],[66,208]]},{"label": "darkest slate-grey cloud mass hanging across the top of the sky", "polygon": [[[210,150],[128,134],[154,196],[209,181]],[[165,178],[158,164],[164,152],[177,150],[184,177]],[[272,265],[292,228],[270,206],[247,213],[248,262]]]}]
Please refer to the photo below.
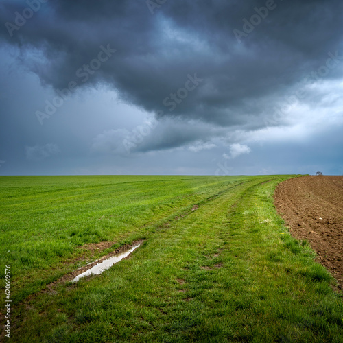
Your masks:
[{"label": "darkest slate-grey cloud mass hanging across the top of the sky", "polygon": [[[265,19],[239,44],[234,30],[244,32],[244,19],[253,15],[258,23],[255,8],[267,3],[273,9],[261,10]],[[1,22],[14,23],[25,7],[3,1]],[[287,94],[325,64],[329,51],[343,51],[342,9],[342,1],[324,0],[173,0],[152,15],[145,1],[56,0],[41,3],[12,37],[3,25],[1,39],[21,47],[23,64],[56,89],[104,82],[159,117],[256,128],[271,115],[271,95]],[[97,58],[100,46],[116,52],[83,82],[86,76],[76,72]],[[326,77],[338,78],[341,70]],[[186,93],[187,75],[195,74],[202,82]]]}]

